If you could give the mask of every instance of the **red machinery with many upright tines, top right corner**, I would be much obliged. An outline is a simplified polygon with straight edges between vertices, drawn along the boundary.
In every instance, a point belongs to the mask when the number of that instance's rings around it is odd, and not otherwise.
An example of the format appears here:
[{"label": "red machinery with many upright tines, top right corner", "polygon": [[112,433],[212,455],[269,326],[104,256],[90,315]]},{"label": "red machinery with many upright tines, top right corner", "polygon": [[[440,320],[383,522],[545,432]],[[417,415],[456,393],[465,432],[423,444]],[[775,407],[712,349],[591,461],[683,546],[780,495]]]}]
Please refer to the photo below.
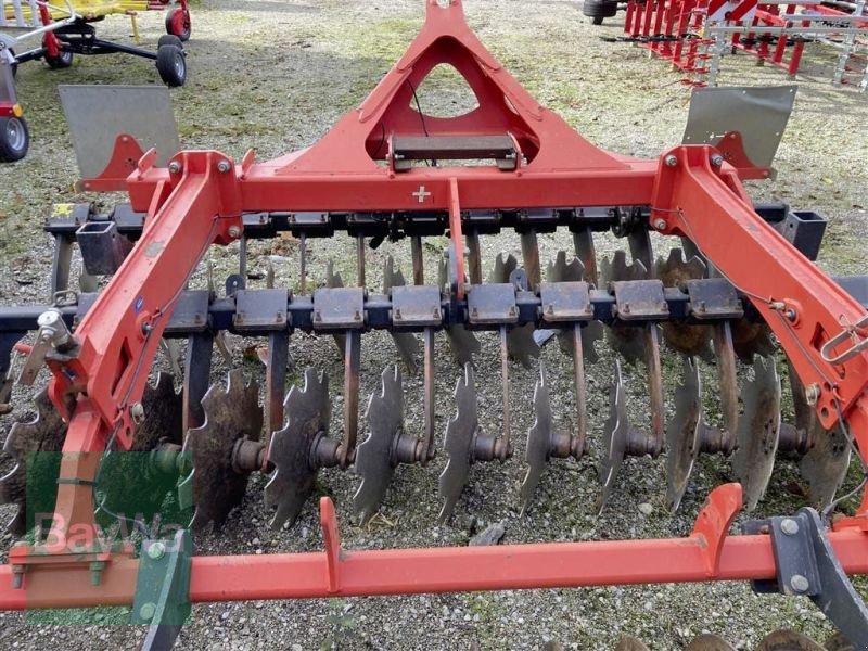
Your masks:
[{"label": "red machinery with many upright tines, top right corner", "polygon": [[[599,4],[599,7],[598,7]],[[597,21],[615,14],[617,3],[585,3]],[[715,86],[728,54],[743,52],[795,78],[806,46],[824,43],[839,54],[832,72],[835,86],[868,89],[868,8],[846,2],[738,2],[704,0],[631,0],[624,5],[625,36],[688,73],[692,86]],[[590,13],[588,13],[590,12]]]}]

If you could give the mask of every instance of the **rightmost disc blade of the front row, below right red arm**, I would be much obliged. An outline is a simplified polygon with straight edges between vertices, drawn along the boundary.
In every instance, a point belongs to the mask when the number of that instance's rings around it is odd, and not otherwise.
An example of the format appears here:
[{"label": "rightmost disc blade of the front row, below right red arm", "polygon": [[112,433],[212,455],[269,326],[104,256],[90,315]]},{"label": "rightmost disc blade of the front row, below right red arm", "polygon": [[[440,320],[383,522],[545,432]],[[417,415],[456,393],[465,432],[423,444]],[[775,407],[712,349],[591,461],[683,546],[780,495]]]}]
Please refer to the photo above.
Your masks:
[{"label": "rightmost disc blade of the front row, below right red arm", "polygon": [[[818,508],[827,507],[834,499],[834,495],[844,482],[850,468],[852,449],[844,433],[840,427],[827,431],[817,418],[814,406],[807,399],[807,393],[802,381],[788,360],[790,387],[793,394],[795,410],[795,429],[804,433],[807,450],[799,460],[799,470],[807,481],[810,501]],[[781,439],[784,436],[784,426],[781,425]],[[783,447],[783,441],[779,449]]]}]

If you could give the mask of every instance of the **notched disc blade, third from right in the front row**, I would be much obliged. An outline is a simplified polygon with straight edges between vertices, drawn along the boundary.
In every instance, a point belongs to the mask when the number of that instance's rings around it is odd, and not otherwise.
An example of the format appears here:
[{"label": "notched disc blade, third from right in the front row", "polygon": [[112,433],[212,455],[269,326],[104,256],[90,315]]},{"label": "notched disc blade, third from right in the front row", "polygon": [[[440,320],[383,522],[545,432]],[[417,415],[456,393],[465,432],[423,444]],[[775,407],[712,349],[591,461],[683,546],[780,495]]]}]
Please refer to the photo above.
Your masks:
[{"label": "notched disc blade, third from right in the front row", "polygon": [[666,425],[666,503],[672,512],[681,503],[700,452],[702,388],[699,368],[684,358],[684,374],[675,390],[675,416]]}]

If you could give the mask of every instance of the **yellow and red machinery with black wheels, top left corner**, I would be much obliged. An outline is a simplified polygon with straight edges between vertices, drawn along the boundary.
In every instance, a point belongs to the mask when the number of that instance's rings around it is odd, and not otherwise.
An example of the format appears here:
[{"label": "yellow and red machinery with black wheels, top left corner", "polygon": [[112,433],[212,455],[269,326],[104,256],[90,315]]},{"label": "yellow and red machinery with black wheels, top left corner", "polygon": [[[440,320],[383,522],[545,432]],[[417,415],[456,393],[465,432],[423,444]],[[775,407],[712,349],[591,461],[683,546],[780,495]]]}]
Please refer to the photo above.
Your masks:
[{"label": "yellow and red machinery with black wheels, top left corner", "polygon": [[[138,47],[136,16],[141,11],[162,10],[168,0],[64,1],[62,7],[42,0],[0,3],[0,163],[20,161],[29,146],[24,108],[15,91],[20,63],[42,60],[51,68],[67,68],[75,54],[122,52],[154,61],[167,86],[182,86],[187,80],[183,41],[191,33],[187,0],[178,0],[177,7],[166,13],[166,35],[161,37],[155,52]],[[97,37],[94,24],[113,14],[129,16],[136,46]],[[39,47],[25,49],[35,40],[39,40]]]}]

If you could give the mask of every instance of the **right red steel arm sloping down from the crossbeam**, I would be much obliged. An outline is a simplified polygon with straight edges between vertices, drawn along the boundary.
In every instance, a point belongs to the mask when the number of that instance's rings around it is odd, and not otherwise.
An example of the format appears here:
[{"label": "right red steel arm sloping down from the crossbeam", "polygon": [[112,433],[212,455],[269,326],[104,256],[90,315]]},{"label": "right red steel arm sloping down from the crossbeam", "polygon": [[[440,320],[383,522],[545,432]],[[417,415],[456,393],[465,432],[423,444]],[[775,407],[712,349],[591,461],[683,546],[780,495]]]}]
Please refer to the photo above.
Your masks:
[{"label": "right red steel arm sloping down from the crossbeam", "polygon": [[661,157],[652,225],[692,240],[750,298],[813,387],[824,427],[843,419],[868,459],[868,312],[754,212],[715,153],[679,146]]}]

